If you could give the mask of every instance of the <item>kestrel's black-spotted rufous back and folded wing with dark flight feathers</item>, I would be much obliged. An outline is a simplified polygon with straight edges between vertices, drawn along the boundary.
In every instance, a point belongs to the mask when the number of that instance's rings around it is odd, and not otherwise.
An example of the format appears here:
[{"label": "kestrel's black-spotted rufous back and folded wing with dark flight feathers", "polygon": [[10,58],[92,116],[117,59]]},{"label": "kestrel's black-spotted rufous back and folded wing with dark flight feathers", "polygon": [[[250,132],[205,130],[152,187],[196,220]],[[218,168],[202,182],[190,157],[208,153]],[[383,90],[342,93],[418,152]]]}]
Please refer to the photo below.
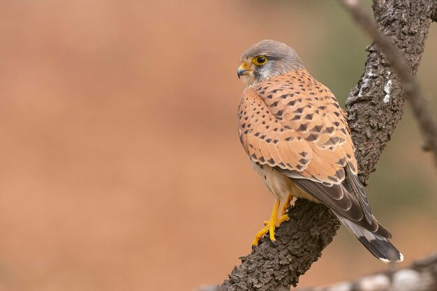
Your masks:
[{"label": "kestrel's black-spotted rufous back and folded wing with dark flight feathers", "polygon": [[298,70],[246,89],[238,113],[239,138],[252,161],[275,167],[337,213],[353,221],[365,217],[375,228],[356,176],[346,113],[329,89]]}]

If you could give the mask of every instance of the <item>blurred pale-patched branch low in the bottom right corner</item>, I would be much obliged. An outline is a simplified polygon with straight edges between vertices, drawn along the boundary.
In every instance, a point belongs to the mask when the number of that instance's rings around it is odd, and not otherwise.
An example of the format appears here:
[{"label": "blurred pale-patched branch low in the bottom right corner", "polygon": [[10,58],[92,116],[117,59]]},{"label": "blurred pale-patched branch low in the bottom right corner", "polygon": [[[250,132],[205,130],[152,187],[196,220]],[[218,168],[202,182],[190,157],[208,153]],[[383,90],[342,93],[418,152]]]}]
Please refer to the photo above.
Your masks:
[{"label": "blurred pale-patched branch low in the bottom right corner", "polygon": [[[355,281],[342,282],[299,291],[435,291],[437,290],[437,254],[414,262],[410,267],[385,271]],[[297,290],[296,290],[297,291]]]}]

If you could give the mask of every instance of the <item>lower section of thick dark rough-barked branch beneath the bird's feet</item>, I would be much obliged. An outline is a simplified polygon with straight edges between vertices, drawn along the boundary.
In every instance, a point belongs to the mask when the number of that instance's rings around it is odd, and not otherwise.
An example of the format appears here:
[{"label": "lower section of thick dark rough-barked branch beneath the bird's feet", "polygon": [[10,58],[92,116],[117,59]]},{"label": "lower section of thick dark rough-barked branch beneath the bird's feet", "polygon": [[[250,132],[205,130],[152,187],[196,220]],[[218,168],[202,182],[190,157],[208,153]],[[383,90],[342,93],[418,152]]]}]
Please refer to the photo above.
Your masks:
[{"label": "lower section of thick dark rough-barked branch beneath the bird's feet", "polygon": [[340,226],[332,211],[308,200],[297,200],[288,215],[290,221],[281,224],[276,242],[262,239],[250,255],[241,258],[242,264],[232,270],[222,290],[289,290],[320,257]]}]

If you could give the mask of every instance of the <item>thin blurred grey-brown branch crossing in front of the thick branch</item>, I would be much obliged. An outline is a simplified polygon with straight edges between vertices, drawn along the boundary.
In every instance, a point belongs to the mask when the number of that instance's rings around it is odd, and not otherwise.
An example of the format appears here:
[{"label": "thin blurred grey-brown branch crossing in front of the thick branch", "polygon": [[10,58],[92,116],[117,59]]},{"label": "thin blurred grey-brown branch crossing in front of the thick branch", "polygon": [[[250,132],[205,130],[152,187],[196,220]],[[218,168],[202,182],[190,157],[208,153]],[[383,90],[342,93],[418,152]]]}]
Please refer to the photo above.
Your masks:
[{"label": "thin blurred grey-brown branch crossing in front of the thick branch", "polygon": [[[413,107],[415,118],[419,123],[420,130],[424,137],[422,147],[424,150],[434,151],[434,160],[437,165],[437,124],[431,112],[428,110],[427,101],[422,94],[422,89],[420,89],[419,84],[410,74],[410,68],[408,68],[406,60],[403,59],[399,51],[393,46],[390,38],[380,33],[375,22],[373,22],[370,15],[364,10],[360,0],[340,0],[340,2],[349,11],[355,22],[360,24],[362,29],[373,38],[385,58],[390,62],[390,66],[394,69],[397,77],[399,77],[401,86],[410,101],[411,107]],[[432,8],[434,8],[434,6],[432,6]],[[435,10],[431,9],[431,12],[435,12]],[[390,82],[390,80],[388,82]],[[387,89],[385,89],[387,98],[384,100],[386,102],[390,102],[391,82],[388,82]]]}]

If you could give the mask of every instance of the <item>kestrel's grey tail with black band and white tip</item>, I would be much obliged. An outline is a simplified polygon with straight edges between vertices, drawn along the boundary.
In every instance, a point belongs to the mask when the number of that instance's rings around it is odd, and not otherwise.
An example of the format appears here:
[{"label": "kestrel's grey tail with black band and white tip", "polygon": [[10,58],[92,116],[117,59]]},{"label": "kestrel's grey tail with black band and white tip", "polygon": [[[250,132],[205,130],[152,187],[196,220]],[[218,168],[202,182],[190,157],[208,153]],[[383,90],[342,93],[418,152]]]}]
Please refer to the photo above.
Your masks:
[{"label": "kestrel's grey tail with black band and white tip", "polygon": [[353,223],[348,218],[337,215],[339,220],[355,234],[355,237],[374,255],[383,262],[402,262],[403,255],[388,239],[378,233],[370,232],[364,227]]}]

